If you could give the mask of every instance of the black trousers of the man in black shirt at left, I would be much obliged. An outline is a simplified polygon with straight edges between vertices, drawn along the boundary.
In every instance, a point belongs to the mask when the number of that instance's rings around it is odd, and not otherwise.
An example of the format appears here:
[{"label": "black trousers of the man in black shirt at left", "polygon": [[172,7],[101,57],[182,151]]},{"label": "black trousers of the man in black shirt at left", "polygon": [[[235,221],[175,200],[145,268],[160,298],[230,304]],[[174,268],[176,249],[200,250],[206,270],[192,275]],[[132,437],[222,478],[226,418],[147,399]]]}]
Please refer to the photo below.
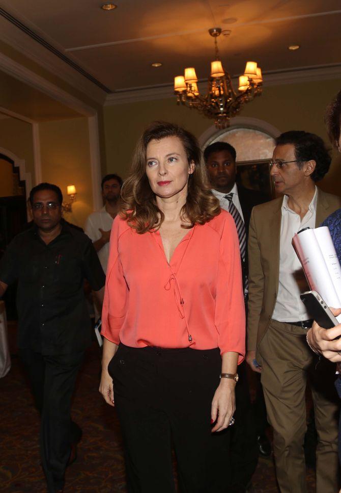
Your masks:
[{"label": "black trousers of the man in black shirt at left", "polygon": [[20,349],[35,405],[41,414],[40,453],[49,493],[63,488],[71,443],[80,428],[71,421],[71,399],[84,352],[44,356]]}]

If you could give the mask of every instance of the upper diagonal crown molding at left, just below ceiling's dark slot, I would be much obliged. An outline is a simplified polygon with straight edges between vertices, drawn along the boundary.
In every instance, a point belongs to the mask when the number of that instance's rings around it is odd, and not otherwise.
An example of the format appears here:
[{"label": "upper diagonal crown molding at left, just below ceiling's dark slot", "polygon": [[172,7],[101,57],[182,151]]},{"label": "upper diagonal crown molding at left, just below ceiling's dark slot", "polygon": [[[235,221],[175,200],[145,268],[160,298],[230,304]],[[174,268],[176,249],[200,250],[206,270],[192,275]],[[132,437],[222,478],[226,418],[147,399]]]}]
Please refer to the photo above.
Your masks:
[{"label": "upper diagonal crown molding at left, just below ceiling's dark slot", "polygon": [[0,40],[9,44],[22,55],[45,68],[72,87],[83,92],[99,105],[103,105],[106,92],[86,79],[70,65],[56,57],[51,51],[40,45],[29,35],[16,28],[11,22],[0,16]]}]

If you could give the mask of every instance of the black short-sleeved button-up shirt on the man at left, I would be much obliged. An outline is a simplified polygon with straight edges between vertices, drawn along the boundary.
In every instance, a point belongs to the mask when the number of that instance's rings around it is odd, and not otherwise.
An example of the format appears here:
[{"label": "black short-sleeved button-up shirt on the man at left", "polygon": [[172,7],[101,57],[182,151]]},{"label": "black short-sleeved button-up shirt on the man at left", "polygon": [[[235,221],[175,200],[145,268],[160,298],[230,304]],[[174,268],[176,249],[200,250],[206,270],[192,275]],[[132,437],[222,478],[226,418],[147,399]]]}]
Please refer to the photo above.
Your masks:
[{"label": "black short-sleeved button-up shirt on the man at left", "polygon": [[56,355],[83,351],[90,344],[84,279],[98,291],[105,275],[91,240],[64,221],[48,245],[36,226],[12,240],[0,262],[0,280],[18,280],[19,348]]}]

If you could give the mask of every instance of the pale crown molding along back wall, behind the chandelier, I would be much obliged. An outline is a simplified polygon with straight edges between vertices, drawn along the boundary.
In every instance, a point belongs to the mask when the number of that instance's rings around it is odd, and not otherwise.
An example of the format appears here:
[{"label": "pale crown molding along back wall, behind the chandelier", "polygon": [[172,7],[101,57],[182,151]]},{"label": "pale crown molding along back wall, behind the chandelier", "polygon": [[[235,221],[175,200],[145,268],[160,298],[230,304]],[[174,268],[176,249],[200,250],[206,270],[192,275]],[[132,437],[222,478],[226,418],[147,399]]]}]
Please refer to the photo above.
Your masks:
[{"label": "pale crown molding along back wall, behind the chandelier", "polygon": [[[311,81],[323,81],[328,79],[341,79],[341,64],[317,65],[291,68],[288,70],[274,70],[263,73],[263,86],[279,86],[283,84],[297,84]],[[232,77],[238,84],[238,75]],[[200,92],[207,89],[207,80],[198,82]],[[151,101],[174,97],[174,89],[171,84],[162,86],[148,86],[116,91],[108,94],[104,106],[123,105],[138,101]]]}]

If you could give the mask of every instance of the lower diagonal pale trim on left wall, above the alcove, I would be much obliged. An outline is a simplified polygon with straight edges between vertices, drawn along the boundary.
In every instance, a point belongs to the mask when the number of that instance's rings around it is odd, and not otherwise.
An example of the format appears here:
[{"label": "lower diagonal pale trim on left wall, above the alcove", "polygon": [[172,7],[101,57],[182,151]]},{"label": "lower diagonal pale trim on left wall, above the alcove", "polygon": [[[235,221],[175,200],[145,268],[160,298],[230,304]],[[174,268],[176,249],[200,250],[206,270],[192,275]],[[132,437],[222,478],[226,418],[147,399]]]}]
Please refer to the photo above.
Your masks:
[{"label": "lower diagonal pale trim on left wall, above the alcove", "polygon": [[0,53],[0,69],[12,77],[15,77],[15,79],[18,79],[19,81],[40,90],[44,94],[47,94],[69,108],[72,108],[83,116],[92,116],[96,112],[94,108],[86,105],[86,103],[83,103],[74,96],[71,96],[68,92],[48,82],[40,75],[37,75],[32,70],[29,70],[23,65],[15,62],[3,53]]}]

